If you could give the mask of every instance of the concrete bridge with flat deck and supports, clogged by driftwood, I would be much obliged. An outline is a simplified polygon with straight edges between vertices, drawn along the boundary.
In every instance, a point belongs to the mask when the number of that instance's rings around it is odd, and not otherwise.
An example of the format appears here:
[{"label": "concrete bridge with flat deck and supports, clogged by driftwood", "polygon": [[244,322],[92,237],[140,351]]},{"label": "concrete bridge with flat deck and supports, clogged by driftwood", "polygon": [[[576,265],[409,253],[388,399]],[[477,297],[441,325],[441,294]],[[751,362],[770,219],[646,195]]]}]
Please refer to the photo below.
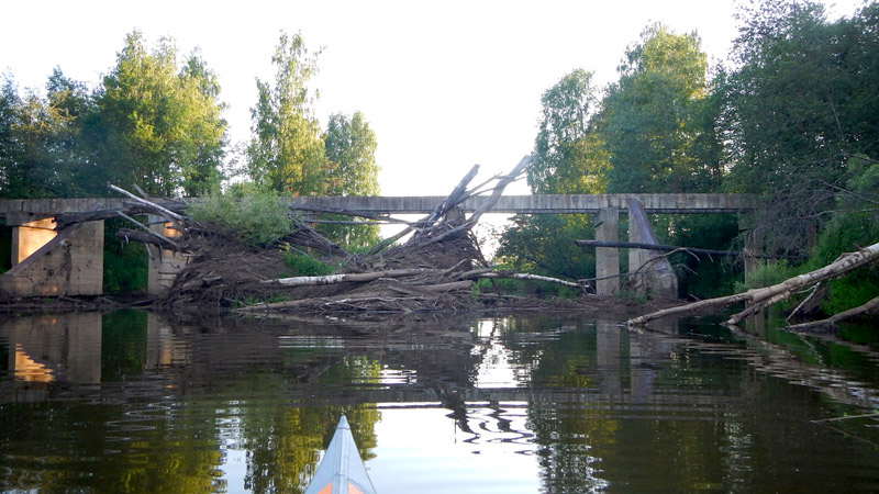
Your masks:
[{"label": "concrete bridge with flat deck and supports, clogged by driftwood", "polygon": [[[347,210],[372,214],[426,214],[445,197],[321,197],[286,198],[292,209]],[[461,204],[465,212],[479,207],[488,198],[478,195]],[[594,214],[596,238],[616,240],[620,214],[630,204],[643,205],[644,212],[704,214],[738,213],[754,207],[753,197],[744,194],[566,194],[508,195],[491,209],[501,214]],[[121,209],[124,199],[46,199],[0,200],[0,216],[12,227],[12,269],[0,274],[0,291],[14,296],[100,295],[103,293],[103,221],[88,222],[68,228],[63,235],[55,229],[53,216],[59,213]],[[151,223],[167,235],[176,233],[159,218]],[[644,226],[630,222],[630,239],[648,238]],[[648,228],[648,227],[647,227]],[[149,293],[158,293],[185,266],[186,259],[173,251],[148,246]],[[597,292],[614,294],[620,289],[619,250],[597,249]],[[648,261],[645,251],[631,249],[630,266]],[[672,292],[671,287],[666,291]],[[674,288],[676,291],[676,288]]]}]

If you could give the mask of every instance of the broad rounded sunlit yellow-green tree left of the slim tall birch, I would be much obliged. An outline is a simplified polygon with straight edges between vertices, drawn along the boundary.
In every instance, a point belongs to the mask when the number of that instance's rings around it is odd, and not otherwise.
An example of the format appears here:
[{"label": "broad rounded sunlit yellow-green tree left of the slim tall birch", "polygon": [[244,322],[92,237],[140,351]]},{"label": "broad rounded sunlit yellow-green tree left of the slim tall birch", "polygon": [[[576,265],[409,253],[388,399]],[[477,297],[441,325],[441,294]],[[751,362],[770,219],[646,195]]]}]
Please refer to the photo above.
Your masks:
[{"label": "broad rounded sunlit yellow-green tree left of the slim tall birch", "polygon": [[178,67],[174,40],[162,38],[148,53],[140,32],[129,34],[85,122],[96,168],[87,188],[111,181],[196,195],[219,187],[226,143],[219,94],[197,53]]}]

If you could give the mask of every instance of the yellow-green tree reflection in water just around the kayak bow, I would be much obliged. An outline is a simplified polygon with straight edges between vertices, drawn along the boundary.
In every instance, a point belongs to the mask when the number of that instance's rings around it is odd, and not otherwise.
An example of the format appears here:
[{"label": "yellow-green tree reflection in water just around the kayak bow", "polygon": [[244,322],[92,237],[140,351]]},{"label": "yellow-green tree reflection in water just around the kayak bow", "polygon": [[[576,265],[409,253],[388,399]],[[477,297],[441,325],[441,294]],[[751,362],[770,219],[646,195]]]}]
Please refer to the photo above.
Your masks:
[{"label": "yellow-green tree reflection in water just around the kayak bow", "polygon": [[[374,360],[345,357],[316,378],[315,384],[345,386],[375,382],[379,372],[380,364]],[[264,389],[286,385],[277,374],[259,377],[253,384]],[[348,417],[360,457],[365,460],[374,457],[371,449],[377,444],[374,429],[380,418],[374,405],[303,407],[271,400],[244,408],[241,429],[242,447],[247,450],[245,489],[254,493],[303,492],[342,414]]]}]

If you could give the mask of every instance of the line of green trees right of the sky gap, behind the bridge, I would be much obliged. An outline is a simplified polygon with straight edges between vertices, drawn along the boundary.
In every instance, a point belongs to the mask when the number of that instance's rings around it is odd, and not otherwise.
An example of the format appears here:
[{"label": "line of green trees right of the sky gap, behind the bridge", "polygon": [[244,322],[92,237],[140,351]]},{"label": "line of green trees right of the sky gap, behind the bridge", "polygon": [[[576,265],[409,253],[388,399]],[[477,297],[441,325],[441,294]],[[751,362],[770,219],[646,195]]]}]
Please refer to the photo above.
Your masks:
[{"label": "line of green trees right of the sky gap, behind the bridge", "polygon": [[[879,4],[830,21],[816,2],[760,0],[743,4],[737,21],[725,61],[710,64],[697,33],[654,24],[625,50],[616,81],[598,88],[591,71],[576,69],[547,89],[532,191],[756,193],[763,201],[747,239],[728,215],[656,216],[659,239],[720,249],[747,243],[803,256],[805,265],[875,243]],[[571,243],[593,238],[591,218],[521,215],[500,239],[503,262],[594,277],[594,254]],[[685,291],[732,290],[730,267],[688,256],[679,263]],[[797,269],[804,268],[765,271]],[[854,305],[879,294],[876,269],[855,278],[837,282],[831,300]]]}]

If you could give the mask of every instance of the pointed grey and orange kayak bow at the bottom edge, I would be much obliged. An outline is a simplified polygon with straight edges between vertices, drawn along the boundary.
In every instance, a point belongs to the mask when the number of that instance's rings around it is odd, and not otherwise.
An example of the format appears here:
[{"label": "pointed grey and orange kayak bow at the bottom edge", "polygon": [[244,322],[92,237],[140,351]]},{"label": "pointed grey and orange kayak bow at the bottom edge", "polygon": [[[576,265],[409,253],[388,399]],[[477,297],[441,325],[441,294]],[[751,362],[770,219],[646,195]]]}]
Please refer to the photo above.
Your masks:
[{"label": "pointed grey and orange kayak bow at the bottom edge", "polygon": [[377,494],[344,415],[305,494]]}]

